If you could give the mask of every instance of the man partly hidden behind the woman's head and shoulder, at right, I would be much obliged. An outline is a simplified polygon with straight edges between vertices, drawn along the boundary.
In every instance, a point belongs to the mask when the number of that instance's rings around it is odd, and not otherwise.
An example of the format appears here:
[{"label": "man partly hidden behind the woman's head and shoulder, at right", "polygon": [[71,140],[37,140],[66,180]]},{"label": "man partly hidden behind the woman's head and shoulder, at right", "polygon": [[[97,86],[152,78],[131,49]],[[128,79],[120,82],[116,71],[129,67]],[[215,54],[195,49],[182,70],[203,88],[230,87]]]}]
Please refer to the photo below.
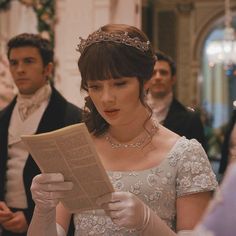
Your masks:
[{"label": "man partly hidden behind the woman's head and shoulder, at right", "polygon": [[204,128],[199,114],[192,108],[185,107],[174,96],[175,62],[162,52],[156,53],[156,56],[153,76],[148,84],[148,103],[155,117],[162,125],[180,136],[197,139],[206,149]]}]

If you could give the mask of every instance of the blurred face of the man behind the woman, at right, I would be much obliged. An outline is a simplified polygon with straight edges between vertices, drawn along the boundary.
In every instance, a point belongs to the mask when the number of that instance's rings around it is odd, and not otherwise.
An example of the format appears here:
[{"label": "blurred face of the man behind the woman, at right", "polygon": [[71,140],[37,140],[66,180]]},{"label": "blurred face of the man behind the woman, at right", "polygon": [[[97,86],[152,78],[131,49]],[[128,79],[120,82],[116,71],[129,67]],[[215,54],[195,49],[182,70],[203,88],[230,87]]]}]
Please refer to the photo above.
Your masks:
[{"label": "blurred face of the man behind the woman, at right", "polygon": [[157,61],[151,80],[148,82],[149,91],[154,98],[162,98],[169,94],[176,77],[171,75],[171,68],[166,61]]}]

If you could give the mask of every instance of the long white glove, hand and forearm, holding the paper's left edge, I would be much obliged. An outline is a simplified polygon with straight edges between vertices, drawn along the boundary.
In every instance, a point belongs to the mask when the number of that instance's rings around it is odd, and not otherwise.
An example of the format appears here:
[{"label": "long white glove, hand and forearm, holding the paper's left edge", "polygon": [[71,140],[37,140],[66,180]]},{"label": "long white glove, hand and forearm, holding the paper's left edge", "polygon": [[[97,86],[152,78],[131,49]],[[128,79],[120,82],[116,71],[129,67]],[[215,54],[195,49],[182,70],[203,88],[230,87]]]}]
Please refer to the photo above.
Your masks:
[{"label": "long white glove, hand and forearm, holding the paper's left edge", "polygon": [[60,173],[40,174],[33,178],[31,185],[32,197],[35,202],[34,215],[27,236],[61,235],[56,226],[56,206],[73,183],[65,182]]}]

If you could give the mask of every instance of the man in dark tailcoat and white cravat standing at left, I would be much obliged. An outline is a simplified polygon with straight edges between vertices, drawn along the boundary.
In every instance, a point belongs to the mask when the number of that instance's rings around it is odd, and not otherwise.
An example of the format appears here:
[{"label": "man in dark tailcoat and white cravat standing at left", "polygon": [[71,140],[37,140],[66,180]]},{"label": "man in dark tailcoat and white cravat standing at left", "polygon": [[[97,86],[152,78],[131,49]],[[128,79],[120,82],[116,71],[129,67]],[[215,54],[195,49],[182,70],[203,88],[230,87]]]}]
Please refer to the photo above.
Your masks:
[{"label": "man in dark tailcoat and white cravat standing at left", "polygon": [[48,40],[24,33],[7,47],[18,94],[0,111],[0,228],[2,236],[26,236],[34,210],[31,181],[40,170],[20,137],[78,123],[81,110],[49,81],[53,50]]}]

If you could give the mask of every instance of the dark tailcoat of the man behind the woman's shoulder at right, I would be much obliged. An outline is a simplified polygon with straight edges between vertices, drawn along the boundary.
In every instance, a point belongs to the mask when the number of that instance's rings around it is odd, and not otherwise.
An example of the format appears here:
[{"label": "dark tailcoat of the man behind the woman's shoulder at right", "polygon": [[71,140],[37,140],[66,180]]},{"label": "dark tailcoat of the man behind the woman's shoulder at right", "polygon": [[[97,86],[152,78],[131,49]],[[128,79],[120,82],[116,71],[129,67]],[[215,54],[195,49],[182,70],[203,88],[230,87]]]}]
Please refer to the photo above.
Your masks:
[{"label": "dark tailcoat of the man behind the woman's shoulder at right", "polygon": [[206,138],[199,114],[186,108],[175,98],[170,105],[163,125],[180,136],[197,139],[206,150]]}]

